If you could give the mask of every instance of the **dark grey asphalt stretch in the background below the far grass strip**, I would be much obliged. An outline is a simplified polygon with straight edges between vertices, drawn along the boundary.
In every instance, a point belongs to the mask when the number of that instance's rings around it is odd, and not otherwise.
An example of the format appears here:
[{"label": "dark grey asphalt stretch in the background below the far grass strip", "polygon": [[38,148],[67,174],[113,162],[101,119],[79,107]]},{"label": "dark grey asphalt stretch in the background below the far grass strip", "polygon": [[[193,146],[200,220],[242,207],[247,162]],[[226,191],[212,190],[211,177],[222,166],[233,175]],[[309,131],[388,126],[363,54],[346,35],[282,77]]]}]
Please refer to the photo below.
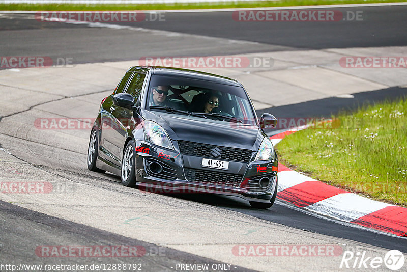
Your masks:
[{"label": "dark grey asphalt stretch in the background below the far grass strip", "polygon": [[[329,10],[329,9],[324,9]],[[339,22],[238,22],[232,12],[165,13],[165,21],[119,22],[135,28],[169,31],[189,35],[255,42],[258,44],[196,44],[188,36],[176,42],[149,41],[129,30],[89,29],[84,25],[39,22],[30,15],[0,16],[2,56],[24,53],[28,56],[72,57],[74,63],[136,60],[151,56],[213,56],[274,50],[327,49],[344,47],[402,46],[407,43],[404,6],[335,8],[362,12],[363,21]],[[33,16],[31,14],[31,16]],[[188,23],[186,23],[188,22]],[[46,31],[44,31],[46,29]],[[352,31],[350,31],[352,30]],[[117,43],[120,39],[120,43]],[[14,46],[25,44],[25,48]],[[46,44],[47,46],[42,46]],[[214,46],[216,45],[216,46]],[[159,51],[159,54],[156,53]]]}]

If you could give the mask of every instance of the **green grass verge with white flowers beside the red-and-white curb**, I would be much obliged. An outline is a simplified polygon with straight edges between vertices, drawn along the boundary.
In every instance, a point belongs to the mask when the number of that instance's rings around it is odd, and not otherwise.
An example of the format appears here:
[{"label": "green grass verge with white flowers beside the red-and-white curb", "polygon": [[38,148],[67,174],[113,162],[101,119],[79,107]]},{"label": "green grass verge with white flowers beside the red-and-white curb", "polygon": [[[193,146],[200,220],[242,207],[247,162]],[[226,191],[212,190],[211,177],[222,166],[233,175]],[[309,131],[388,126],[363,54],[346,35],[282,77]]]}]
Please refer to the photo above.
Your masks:
[{"label": "green grass verge with white flowers beside the red-and-white curb", "polygon": [[328,184],[407,207],[407,98],[332,118],[337,128],[288,135],[276,147],[279,160]]}]

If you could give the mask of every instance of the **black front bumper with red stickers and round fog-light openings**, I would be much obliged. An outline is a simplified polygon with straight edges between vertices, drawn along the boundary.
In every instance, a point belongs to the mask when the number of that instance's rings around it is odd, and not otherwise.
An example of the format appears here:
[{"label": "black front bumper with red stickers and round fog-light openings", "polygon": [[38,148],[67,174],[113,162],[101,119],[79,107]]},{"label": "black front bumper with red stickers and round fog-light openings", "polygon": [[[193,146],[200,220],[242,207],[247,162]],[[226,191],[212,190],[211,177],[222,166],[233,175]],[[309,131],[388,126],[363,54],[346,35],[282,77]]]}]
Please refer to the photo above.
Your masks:
[{"label": "black front bumper with red stickers and round fog-light openings", "polygon": [[[277,184],[277,159],[264,162],[250,161],[243,164],[238,170],[241,175],[239,182],[231,186],[219,185],[222,182],[200,182],[201,180],[191,181],[185,175],[184,160],[188,159],[177,150],[164,150],[160,147],[153,146],[144,141],[136,143],[136,179],[140,189],[158,194],[172,193],[210,193],[228,196],[237,196],[248,201],[270,202],[275,192]],[[253,154],[254,156],[255,154]],[[158,163],[162,166],[162,174],[153,174],[149,168],[151,162]],[[229,173],[225,171],[212,171],[212,169],[203,169],[195,165],[194,170],[206,171],[216,175],[237,175],[238,173]],[[191,168],[189,168],[191,169]],[[261,177],[267,177],[270,184],[267,187],[253,188],[253,182],[256,183]],[[216,184],[215,184],[216,183]],[[256,184],[254,184],[256,185]]]}]

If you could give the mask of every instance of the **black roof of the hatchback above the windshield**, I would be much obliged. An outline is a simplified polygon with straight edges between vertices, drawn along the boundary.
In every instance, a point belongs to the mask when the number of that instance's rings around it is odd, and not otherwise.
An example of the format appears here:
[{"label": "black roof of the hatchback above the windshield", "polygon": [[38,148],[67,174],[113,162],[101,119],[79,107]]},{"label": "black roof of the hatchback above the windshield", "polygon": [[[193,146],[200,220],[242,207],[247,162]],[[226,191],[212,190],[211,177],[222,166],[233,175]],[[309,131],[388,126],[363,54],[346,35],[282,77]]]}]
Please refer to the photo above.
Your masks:
[{"label": "black roof of the hatchback above the windshield", "polygon": [[134,66],[134,67],[129,68],[128,71],[136,71],[136,70],[150,70],[153,74],[157,74],[157,75],[182,76],[182,77],[212,81],[212,82],[219,83],[219,84],[233,85],[233,86],[239,86],[239,87],[242,86],[239,83],[239,81],[237,81],[235,79],[231,79],[231,78],[216,75],[216,74],[189,70],[189,69],[161,67],[161,66]]}]

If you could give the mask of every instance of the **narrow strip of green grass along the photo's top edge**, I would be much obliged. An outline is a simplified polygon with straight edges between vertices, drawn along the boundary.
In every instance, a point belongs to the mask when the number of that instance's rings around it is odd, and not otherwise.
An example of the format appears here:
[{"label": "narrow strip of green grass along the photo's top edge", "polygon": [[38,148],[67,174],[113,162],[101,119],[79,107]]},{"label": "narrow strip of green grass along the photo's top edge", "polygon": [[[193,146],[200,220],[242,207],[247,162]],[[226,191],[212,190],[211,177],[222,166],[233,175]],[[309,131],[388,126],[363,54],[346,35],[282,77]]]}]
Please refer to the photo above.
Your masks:
[{"label": "narrow strip of green grass along the photo's top edge", "polygon": [[254,7],[317,6],[334,4],[394,3],[406,0],[277,0],[259,2],[224,1],[215,3],[173,3],[135,5],[83,5],[83,4],[0,4],[0,10],[176,10],[176,9],[225,9]]}]

